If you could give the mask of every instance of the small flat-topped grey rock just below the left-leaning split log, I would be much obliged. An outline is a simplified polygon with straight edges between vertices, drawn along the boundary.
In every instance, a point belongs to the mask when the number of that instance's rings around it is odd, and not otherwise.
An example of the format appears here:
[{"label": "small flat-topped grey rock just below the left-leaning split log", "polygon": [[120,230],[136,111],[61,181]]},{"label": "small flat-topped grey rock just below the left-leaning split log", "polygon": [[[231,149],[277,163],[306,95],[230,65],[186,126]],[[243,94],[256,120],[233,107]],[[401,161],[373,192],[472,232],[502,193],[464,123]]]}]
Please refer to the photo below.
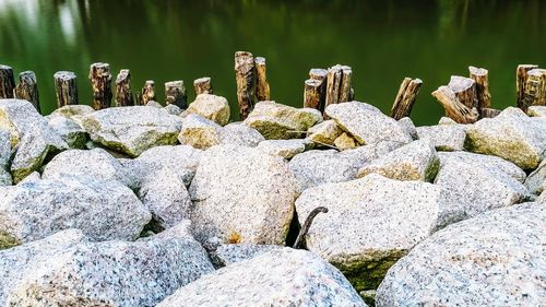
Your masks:
[{"label": "small flat-topped grey rock just below the left-leaning split log", "polygon": [[462,125],[438,125],[417,127],[419,139],[430,139],[437,151],[464,150],[466,131]]}]

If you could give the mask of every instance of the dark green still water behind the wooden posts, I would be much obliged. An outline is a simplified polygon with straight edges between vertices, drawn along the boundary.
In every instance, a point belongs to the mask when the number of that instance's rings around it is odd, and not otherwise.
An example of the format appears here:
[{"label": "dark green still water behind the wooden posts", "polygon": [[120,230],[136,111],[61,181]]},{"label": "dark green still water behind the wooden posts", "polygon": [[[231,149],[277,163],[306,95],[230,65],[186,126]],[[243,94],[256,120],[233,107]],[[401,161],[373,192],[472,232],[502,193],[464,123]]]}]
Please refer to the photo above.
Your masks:
[{"label": "dark green still water behind the wooden posts", "polygon": [[237,114],[234,52],[268,60],[272,98],[300,107],[310,68],[353,68],[356,99],[389,111],[404,76],[420,78],[412,118],[435,123],[430,93],[470,64],[489,70],[492,107],[515,101],[515,67],[546,66],[546,1],[167,1],[0,0],[0,63],[33,70],[44,113],[56,107],[52,75],[79,76],[91,103],[88,67],[108,62],[133,90],[155,80],[211,76]]}]

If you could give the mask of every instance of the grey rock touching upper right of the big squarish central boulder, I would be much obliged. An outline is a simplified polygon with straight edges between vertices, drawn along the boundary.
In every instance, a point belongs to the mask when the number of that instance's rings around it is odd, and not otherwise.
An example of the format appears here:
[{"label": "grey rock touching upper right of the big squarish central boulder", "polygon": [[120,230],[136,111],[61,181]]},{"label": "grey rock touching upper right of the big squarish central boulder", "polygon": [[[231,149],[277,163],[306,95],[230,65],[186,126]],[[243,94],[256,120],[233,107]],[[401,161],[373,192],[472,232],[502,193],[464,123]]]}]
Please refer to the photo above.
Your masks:
[{"label": "grey rock touching upper right of the big squarish central boulder", "polygon": [[335,150],[314,150],[293,157],[289,167],[305,190],[328,182],[354,179],[360,167],[359,158],[356,155],[343,155]]}]

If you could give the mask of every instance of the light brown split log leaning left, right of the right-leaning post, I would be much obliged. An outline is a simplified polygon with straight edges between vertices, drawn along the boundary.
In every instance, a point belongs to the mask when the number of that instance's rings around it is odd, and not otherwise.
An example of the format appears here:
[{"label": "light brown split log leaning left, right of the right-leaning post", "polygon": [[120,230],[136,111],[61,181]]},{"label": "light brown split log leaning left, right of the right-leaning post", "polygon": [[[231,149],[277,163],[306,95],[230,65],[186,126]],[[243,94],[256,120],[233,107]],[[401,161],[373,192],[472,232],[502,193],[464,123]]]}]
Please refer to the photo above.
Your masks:
[{"label": "light brown split log leaning left, right of the right-leaning post", "polygon": [[432,92],[432,96],[443,106],[446,114],[459,123],[472,123],[478,119],[475,108],[461,103],[456,94],[449,86],[440,86]]}]

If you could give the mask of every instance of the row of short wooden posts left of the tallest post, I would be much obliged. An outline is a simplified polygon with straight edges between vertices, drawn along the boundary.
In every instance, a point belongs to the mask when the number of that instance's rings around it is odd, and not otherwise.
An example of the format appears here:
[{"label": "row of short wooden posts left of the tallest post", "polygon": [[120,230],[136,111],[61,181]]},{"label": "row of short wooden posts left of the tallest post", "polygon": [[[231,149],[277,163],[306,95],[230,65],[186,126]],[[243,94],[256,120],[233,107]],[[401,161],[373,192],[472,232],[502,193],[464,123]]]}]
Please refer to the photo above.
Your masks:
[{"label": "row of short wooden posts left of the tallest post", "polygon": [[[111,73],[108,63],[93,63],[90,68],[90,81],[93,92],[92,106],[94,109],[110,107],[114,97],[116,106],[146,105],[156,99],[155,82],[149,80],[144,83],[140,93],[133,94],[131,90],[131,72],[122,69],[116,78],[115,88],[111,88]],[[78,105],[78,78],[71,71],[58,71],[54,74],[57,105]],[[211,78],[200,78],[193,82],[195,96],[199,94],[212,94]],[[183,81],[170,81],[165,83],[166,104],[175,104],[186,109],[188,107],[188,95]],[[24,71],[19,75],[19,84],[15,85],[13,69],[0,64],[0,98],[26,99],[40,111],[38,86],[36,74],[33,71]]]}]

